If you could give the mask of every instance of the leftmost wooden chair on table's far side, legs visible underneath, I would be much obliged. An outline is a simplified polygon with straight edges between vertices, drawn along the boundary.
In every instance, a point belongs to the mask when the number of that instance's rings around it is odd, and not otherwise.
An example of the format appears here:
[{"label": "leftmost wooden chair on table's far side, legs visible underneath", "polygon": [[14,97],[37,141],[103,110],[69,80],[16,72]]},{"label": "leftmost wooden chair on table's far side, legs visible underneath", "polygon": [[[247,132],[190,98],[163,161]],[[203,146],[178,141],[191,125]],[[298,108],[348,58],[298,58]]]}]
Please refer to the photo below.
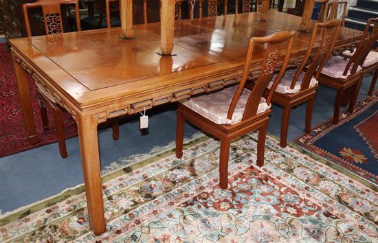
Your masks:
[{"label": "leftmost wooden chair on table's far side, legs visible underneath", "polygon": [[[30,22],[29,22],[29,14],[27,10],[30,8],[42,8],[43,11],[43,20],[45,21],[45,30],[46,34],[58,34],[63,33],[63,23],[62,23],[62,13],[60,12],[60,5],[75,5],[76,9],[76,19],[80,20],[80,13],[79,13],[79,5],[78,0],[38,0],[34,3],[25,3],[23,4],[23,18],[25,21],[25,27],[27,32],[27,37],[32,37],[32,31],[30,30]],[[76,21],[77,30],[80,31],[80,21]],[[63,132],[63,120],[62,114],[64,108],[59,106],[59,104],[54,100],[52,95],[45,92],[45,89],[36,84],[36,88],[38,91],[38,97],[40,98],[40,108],[41,108],[41,118],[43,124],[43,130],[47,130],[49,128],[49,122],[47,118],[47,109],[46,105],[49,108],[52,108],[54,111],[54,120],[55,120],[55,128],[56,134],[58,137],[58,145],[59,145],[59,152],[62,158],[67,157],[67,149],[65,145],[65,135]],[[118,123],[113,125],[113,138],[116,140],[118,139]]]}]

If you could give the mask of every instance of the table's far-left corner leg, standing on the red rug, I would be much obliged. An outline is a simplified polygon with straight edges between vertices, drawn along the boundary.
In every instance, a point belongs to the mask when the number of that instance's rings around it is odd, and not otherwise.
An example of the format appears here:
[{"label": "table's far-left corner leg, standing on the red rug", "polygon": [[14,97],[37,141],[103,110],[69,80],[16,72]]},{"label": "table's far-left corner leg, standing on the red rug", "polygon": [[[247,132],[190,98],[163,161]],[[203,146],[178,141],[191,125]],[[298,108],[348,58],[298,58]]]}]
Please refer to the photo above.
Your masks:
[{"label": "table's far-left corner leg, standing on the red rug", "polygon": [[16,60],[12,60],[14,73],[16,74],[17,87],[19,89],[19,97],[21,102],[21,111],[23,115],[23,123],[25,126],[27,141],[30,144],[39,142],[36,133],[36,125],[34,124],[32,101],[30,100],[29,84],[27,82],[27,73],[21,68]]}]

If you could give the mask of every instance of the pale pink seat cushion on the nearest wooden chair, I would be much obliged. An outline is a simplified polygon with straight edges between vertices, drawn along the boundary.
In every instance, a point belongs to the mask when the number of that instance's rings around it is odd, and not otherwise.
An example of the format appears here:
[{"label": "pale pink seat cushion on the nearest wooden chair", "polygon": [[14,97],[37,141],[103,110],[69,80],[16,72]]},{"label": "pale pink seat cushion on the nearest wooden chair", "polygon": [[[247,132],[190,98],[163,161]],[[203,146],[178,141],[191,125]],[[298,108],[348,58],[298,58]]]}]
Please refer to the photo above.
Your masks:
[{"label": "pale pink seat cushion on the nearest wooden chair", "polygon": [[[245,104],[247,103],[249,93],[251,93],[251,91],[244,89],[238,100],[238,104],[236,104],[232,120],[229,120],[227,119],[227,112],[237,88],[237,85],[231,86],[215,93],[200,95],[190,100],[181,101],[181,104],[184,104],[184,106],[187,106],[192,111],[199,113],[216,124],[236,124],[243,119]],[[262,97],[257,113],[263,113],[269,108],[270,105],[268,106],[267,102],[265,102],[265,98]]]}]

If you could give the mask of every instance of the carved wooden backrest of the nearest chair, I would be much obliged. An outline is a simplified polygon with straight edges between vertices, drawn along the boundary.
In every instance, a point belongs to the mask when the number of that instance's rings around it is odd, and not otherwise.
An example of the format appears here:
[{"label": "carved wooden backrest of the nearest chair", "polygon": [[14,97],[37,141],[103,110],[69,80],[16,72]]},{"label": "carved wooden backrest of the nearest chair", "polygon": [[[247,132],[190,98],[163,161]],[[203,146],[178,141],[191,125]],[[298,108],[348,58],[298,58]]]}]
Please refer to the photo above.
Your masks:
[{"label": "carved wooden backrest of the nearest chair", "polygon": [[227,113],[227,119],[232,119],[232,114],[234,113],[236,104],[238,103],[238,99],[241,96],[241,93],[243,93],[245,82],[247,81],[247,78],[249,75],[249,69],[252,62],[254,45],[260,44],[261,47],[266,47],[265,57],[263,59],[264,65],[263,67],[261,67],[260,74],[258,75],[258,78],[256,80],[256,84],[254,85],[254,88],[252,89],[248,97],[247,103],[245,105],[244,113],[243,113],[243,120],[249,119],[251,117],[254,117],[254,115],[256,115],[261,97],[263,96],[265,89],[267,89],[267,86],[274,75],[274,71],[276,71],[276,66],[277,66],[278,60],[280,59],[282,46],[284,43],[287,44],[287,42],[289,42],[289,44],[286,47],[285,58],[281,65],[280,73],[278,73],[276,80],[274,80],[274,84],[271,86],[271,89],[267,96],[266,102],[267,104],[270,104],[271,97],[274,93],[274,90],[276,89],[283,74],[285,73],[287,63],[289,62],[289,57],[291,53],[291,48],[293,47],[293,40],[294,40],[295,35],[296,35],[296,32],[294,30],[291,30],[291,32],[278,32],[276,34],[272,34],[270,36],[265,36],[265,37],[252,37],[249,40],[247,58],[245,60],[243,74],[241,76],[240,83],[238,84],[238,89],[236,89],[234,97],[232,98],[232,102],[230,104],[230,108]]}]

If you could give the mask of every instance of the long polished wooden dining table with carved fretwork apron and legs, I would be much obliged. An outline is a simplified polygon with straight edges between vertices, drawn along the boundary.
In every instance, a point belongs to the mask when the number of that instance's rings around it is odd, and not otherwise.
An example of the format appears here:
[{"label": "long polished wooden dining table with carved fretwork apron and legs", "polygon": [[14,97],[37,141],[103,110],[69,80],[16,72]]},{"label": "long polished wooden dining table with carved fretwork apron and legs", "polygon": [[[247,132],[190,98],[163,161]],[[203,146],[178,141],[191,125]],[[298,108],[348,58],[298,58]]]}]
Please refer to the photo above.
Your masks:
[{"label": "long polished wooden dining table with carved fretwork apron and legs", "polygon": [[[176,21],[175,56],[156,54],[159,23],[134,25],[135,38],[126,40],[120,38],[120,27],[12,39],[27,139],[38,142],[27,82],[31,75],[77,122],[89,222],[99,235],[106,231],[106,222],[98,124],[237,82],[249,38],[298,30],[300,21],[298,16],[276,11],[269,12],[267,22],[259,21],[257,12]],[[310,36],[296,34],[291,65],[304,57]],[[335,48],[353,48],[361,37],[362,32],[342,27]],[[251,71],[260,68],[264,52],[265,46],[255,47]]]}]

